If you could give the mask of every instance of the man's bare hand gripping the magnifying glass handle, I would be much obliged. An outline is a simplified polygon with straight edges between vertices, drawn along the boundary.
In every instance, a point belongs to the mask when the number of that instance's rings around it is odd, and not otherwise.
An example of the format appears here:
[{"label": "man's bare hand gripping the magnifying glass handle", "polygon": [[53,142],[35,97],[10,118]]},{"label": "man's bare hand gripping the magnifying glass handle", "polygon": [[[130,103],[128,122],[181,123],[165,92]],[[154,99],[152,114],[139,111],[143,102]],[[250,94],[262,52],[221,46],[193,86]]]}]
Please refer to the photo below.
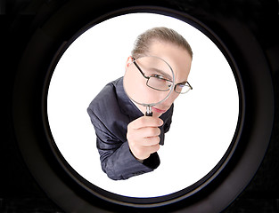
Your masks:
[{"label": "man's bare hand gripping the magnifying glass handle", "polygon": [[143,116],[127,125],[127,141],[136,159],[147,159],[159,150],[159,127],[162,124],[158,117]]}]

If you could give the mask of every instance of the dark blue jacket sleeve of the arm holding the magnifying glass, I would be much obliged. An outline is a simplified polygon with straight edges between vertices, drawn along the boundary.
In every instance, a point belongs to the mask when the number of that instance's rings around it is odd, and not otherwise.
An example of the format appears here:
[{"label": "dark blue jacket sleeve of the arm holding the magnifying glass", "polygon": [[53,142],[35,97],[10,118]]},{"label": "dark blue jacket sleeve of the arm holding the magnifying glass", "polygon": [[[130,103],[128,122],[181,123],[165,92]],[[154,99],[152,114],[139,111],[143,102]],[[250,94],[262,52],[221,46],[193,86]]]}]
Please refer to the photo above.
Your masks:
[{"label": "dark blue jacket sleeve of the arm holding the magnifying glass", "polygon": [[159,166],[160,158],[157,153],[152,154],[144,163],[138,162],[130,152],[127,141],[120,141],[115,137],[89,107],[87,113],[94,125],[102,169],[108,177],[114,180],[127,179]]}]

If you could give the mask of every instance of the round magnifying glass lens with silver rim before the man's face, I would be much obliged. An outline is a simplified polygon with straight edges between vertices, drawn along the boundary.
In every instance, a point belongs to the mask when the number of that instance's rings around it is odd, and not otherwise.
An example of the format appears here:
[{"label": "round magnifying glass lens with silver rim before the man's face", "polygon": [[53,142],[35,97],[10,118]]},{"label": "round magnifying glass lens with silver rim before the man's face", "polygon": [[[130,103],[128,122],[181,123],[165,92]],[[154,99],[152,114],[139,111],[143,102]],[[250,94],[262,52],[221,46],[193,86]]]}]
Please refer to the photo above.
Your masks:
[{"label": "round magnifying glass lens with silver rim before the man's face", "polygon": [[168,99],[174,90],[175,75],[164,59],[144,56],[133,59],[123,78],[127,97],[136,104],[146,106],[146,116],[152,116],[152,106]]}]

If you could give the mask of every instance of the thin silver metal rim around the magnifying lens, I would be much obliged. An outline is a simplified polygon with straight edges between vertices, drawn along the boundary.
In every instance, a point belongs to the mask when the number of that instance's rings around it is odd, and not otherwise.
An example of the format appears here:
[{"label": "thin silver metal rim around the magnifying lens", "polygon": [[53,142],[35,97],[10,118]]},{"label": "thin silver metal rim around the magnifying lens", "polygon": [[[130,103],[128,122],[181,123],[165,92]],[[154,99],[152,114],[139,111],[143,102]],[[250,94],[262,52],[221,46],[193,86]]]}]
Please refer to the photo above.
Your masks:
[{"label": "thin silver metal rim around the magnifying lens", "polygon": [[[131,99],[133,102],[135,102],[136,104],[138,104],[138,105],[146,106],[146,115],[148,115],[148,114],[152,114],[152,106],[159,105],[160,103],[162,103],[163,101],[165,101],[166,99],[168,99],[168,97],[170,96],[171,92],[174,90],[174,87],[175,87],[175,84],[176,84],[176,83],[175,83],[175,73],[174,73],[172,67],[170,67],[170,65],[168,64],[168,62],[167,62],[165,59],[161,59],[161,58],[158,57],[158,56],[152,56],[152,55],[143,55],[143,56],[141,56],[141,57],[139,57],[139,58],[137,58],[137,59],[142,59],[142,58],[145,58],[145,57],[153,57],[153,58],[157,58],[157,59],[160,59],[160,60],[164,61],[164,62],[168,65],[168,67],[169,67],[169,69],[170,69],[170,71],[171,71],[171,74],[172,74],[172,79],[173,79],[173,83],[172,83],[172,85],[171,85],[171,87],[170,87],[170,89],[169,89],[168,95],[167,95],[164,99],[161,99],[159,102],[156,102],[156,103],[144,104],[144,103],[140,103],[140,102],[136,101],[135,99],[132,99],[132,97],[128,95],[128,93],[127,93],[127,91],[126,91],[126,89],[125,89],[125,81],[124,81],[125,76],[123,77],[123,88],[124,88],[124,91],[125,91],[126,94],[127,94],[127,97],[128,97],[129,99]],[[133,59],[132,63],[135,63],[135,61],[136,61],[137,59]],[[132,64],[132,63],[131,63],[131,64]]]}]

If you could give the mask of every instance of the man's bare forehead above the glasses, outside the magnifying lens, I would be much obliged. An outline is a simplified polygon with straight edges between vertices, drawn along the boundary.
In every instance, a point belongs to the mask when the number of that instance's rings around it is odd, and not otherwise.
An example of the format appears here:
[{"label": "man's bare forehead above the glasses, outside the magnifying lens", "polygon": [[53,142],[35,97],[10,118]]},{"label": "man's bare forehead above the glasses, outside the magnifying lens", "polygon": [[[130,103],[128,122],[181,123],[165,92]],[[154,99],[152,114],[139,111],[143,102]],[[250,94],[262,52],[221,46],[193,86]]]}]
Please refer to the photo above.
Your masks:
[{"label": "man's bare forehead above the glasses, outside the magnifying lens", "polygon": [[149,54],[160,57],[168,62],[176,75],[176,82],[187,80],[192,58],[185,48],[177,46],[174,43],[156,40],[151,43]]}]

